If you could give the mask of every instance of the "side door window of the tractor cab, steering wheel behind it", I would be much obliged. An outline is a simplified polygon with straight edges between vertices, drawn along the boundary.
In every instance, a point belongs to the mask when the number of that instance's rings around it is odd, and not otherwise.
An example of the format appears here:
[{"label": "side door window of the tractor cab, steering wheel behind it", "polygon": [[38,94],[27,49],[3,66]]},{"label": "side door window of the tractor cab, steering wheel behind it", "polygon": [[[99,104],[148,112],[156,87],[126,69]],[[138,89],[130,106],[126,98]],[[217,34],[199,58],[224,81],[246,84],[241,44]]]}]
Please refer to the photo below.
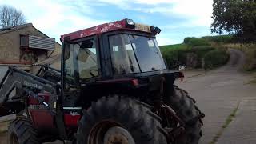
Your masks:
[{"label": "side door window of the tractor cab, steering wheel behind it", "polygon": [[68,51],[64,64],[66,91],[76,90],[82,80],[98,76],[98,50],[95,39],[73,42]]}]

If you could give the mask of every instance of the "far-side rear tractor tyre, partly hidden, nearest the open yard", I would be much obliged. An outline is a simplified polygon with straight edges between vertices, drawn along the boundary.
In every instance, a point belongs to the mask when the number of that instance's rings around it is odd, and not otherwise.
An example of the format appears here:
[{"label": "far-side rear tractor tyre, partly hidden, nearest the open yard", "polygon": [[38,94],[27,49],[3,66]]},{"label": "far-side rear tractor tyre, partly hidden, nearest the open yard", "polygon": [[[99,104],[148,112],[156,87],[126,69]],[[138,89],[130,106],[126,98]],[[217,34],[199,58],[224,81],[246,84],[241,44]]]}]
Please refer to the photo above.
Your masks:
[{"label": "far-side rear tractor tyre, partly hidden, nearest the open yard", "polygon": [[186,122],[185,135],[182,138],[178,138],[174,143],[198,144],[202,136],[202,120],[200,117],[202,113],[195,106],[194,99],[185,90],[174,86],[173,94],[170,94],[167,98],[166,104],[174,109],[183,122]]}]

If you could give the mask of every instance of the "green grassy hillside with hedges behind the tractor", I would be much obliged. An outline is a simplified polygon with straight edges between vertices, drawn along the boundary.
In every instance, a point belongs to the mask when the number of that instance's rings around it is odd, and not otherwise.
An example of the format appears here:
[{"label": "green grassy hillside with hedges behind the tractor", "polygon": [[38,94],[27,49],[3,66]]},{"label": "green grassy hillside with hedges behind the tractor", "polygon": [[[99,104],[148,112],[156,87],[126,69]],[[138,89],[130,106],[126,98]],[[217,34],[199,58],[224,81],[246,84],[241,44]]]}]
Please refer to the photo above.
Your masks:
[{"label": "green grassy hillside with hedges behind the tractor", "polygon": [[233,35],[188,37],[180,44],[160,46],[162,55],[170,69],[175,69],[177,64],[186,65],[187,54],[191,53],[198,57],[198,64],[194,68],[212,69],[222,66],[229,58],[228,48],[242,50],[246,54],[244,70],[256,70],[256,44],[238,43]]}]

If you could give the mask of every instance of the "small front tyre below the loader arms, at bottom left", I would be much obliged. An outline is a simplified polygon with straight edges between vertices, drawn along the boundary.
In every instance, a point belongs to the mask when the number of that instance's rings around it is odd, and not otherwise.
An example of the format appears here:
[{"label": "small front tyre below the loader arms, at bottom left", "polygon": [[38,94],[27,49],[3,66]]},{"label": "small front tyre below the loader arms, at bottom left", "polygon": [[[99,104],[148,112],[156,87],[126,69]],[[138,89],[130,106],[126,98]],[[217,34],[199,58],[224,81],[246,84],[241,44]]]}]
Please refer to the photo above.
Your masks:
[{"label": "small front tyre below the loader arms, at bottom left", "polygon": [[26,118],[20,118],[10,123],[8,129],[8,144],[39,144],[38,133],[31,122]]}]

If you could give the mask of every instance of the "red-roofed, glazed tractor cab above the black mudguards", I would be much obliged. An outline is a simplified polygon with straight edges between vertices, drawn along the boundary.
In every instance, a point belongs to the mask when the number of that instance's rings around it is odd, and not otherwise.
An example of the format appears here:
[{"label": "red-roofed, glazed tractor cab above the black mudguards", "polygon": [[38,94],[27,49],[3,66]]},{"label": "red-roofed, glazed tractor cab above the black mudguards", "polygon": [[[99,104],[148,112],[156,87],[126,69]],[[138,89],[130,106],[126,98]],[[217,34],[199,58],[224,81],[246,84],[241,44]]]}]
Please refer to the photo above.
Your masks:
[{"label": "red-roofed, glazed tractor cab above the black mudguards", "polygon": [[155,35],[160,29],[130,19],[61,37],[65,78],[75,82],[136,77],[166,70]]}]

